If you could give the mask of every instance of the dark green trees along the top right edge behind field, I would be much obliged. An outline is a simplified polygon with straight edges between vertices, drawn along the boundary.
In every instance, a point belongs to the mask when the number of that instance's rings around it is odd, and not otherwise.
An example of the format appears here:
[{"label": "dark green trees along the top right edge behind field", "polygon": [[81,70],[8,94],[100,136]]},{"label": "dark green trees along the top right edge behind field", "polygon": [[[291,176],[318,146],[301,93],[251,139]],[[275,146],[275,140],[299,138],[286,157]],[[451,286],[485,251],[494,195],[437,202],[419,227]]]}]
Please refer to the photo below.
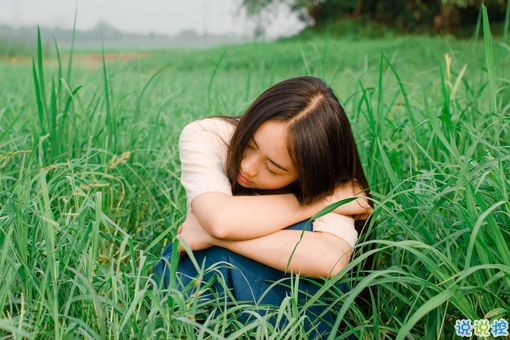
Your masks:
[{"label": "dark green trees along the top right edge behind field", "polygon": [[288,6],[309,26],[340,20],[370,20],[405,32],[455,33],[478,20],[482,3],[491,21],[504,21],[510,0],[242,0],[248,15],[268,14]]}]

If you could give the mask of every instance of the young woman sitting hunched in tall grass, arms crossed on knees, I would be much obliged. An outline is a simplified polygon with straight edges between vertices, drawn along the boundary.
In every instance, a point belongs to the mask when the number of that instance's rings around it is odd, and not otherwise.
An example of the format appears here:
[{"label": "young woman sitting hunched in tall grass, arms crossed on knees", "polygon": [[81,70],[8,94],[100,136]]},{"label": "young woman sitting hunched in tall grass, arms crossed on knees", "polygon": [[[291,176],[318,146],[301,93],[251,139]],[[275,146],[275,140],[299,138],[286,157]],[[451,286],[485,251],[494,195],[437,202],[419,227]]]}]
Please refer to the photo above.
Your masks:
[{"label": "young woman sitting hunched in tall grass, arms crossed on knees", "polygon": [[[372,208],[349,121],[322,80],[288,79],[240,117],[193,122],[181,134],[179,151],[188,215],[178,239],[209,265],[225,261],[237,268],[222,275],[238,301],[278,305],[290,288],[267,288],[284,272],[331,277],[349,263],[354,222]],[[171,249],[156,268],[165,285]],[[186,256],[177,272],[196,275]],[[306,281],[302,288],[317,290]]]}]

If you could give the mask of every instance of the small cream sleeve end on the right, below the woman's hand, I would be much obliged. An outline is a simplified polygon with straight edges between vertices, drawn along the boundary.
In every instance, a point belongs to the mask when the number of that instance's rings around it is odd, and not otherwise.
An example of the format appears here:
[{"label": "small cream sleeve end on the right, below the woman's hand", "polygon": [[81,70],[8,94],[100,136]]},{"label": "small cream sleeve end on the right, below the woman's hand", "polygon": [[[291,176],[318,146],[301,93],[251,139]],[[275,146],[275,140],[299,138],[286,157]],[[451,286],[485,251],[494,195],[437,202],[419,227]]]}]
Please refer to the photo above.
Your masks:
[{"label": "small cream sleeve end on the right, below the woman's hand", "polygon": [[340,214],[329,213],[313,221],[313,231],[330,233],[354,247],[358,240],[358,232],[354,228],[354,219]]}]

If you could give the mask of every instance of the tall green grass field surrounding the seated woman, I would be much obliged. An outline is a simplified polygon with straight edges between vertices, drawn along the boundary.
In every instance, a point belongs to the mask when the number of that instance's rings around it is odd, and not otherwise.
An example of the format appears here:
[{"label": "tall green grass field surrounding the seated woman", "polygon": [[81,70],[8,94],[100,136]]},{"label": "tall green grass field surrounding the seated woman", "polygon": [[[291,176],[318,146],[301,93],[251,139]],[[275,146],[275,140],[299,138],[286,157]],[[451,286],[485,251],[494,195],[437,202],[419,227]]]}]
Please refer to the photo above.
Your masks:
[{"label": "tall green grass field surrounding the seated woman", "polygon": [[371,237],[335,278],[351,287],[331,294],[338,338],[452,339],[456,320],[509,321],[508,40],[38,54],[0,61],[0,338],[306,339],[294,296],[260,316],[151,278],[186,212],[180,130],[299,75],[344,104],[375,200]]}]

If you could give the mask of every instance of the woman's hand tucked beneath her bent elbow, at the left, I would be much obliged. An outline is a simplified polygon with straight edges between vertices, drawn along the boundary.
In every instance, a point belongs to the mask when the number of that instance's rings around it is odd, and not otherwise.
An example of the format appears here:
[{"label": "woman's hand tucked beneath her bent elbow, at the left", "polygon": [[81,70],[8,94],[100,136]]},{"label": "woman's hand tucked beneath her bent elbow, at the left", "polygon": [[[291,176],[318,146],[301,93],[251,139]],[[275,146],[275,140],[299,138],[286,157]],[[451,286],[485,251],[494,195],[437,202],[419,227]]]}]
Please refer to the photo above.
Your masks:
[{"label": "woman's hand tucked beneath her bent elbow, at the left", "polygon": [[195,214],[189,213],[186,220],[177,230],[179,240],[179,252],[183,253],[182,242],[186,242],[191,250],[202,250],[214,245],[214,238],[205,231],[198,222]]}]

